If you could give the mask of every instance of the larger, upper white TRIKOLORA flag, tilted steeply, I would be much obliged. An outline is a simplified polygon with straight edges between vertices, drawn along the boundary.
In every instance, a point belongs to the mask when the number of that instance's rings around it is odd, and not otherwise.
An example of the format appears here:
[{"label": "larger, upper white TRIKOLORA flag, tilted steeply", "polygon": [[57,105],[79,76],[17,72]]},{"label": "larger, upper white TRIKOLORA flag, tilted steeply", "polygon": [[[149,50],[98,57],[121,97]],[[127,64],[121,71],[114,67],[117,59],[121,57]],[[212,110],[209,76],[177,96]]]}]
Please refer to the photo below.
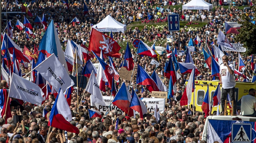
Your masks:
[{"label": "larger, upper white TRIKOLORA flag, tilted steeply", "polygon": [[64,66],[52,54],[35,68],[47,80],[52,87],[58,91],[60,88],[66,90],[74,85],[73,80],[67,74]]}]

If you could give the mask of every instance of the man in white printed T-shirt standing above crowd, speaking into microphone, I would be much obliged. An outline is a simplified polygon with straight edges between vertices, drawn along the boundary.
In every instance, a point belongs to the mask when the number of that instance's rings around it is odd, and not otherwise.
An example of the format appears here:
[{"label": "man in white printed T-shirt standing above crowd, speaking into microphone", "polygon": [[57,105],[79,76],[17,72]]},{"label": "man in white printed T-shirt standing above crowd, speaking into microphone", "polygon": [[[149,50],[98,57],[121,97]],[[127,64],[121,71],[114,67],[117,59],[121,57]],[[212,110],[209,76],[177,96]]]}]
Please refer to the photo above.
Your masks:
[{"label": "man in white printed T-shirt standing above crowd, speaking into microphone", "polygon": [[[222,57],[223,63],[220,65],[220,84],[222,84],[221,91],[221,110],[224,113],[225,100],[229,94],[231,101],[233,102],[233,115],[236,115],[236,98],[235,98],[235,86],[236,81],[234,79],[234,66],[228,63],[228,56]],[[223,114],[224,115],[224,114]]]}]

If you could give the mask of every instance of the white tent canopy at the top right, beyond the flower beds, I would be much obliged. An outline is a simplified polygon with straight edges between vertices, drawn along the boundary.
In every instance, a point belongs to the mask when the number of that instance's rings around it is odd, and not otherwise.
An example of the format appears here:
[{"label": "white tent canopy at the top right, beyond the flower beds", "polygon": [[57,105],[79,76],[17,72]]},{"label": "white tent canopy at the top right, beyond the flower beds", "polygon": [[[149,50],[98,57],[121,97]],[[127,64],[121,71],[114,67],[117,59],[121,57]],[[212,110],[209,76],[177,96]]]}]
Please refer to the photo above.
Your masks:
[{"label": "white tent canopy at the top right, beyond the flower beds", "polygon": [[210,10],[212,4],[205,2],[204,0],[192,0],[182,6],[183,10]]}]

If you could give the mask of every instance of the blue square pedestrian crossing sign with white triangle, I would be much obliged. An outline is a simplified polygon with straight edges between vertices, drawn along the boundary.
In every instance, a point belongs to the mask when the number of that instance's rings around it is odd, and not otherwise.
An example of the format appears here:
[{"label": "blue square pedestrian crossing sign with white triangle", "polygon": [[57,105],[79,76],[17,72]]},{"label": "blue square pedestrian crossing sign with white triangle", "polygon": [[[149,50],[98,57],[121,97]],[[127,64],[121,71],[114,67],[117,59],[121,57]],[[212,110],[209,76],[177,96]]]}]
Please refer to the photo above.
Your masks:
[{"label": "blue square pedestrian crossing sign with white triangle", "polygon": [[233,143],[251,142],[251,124],[232,124],[231,136]]}]

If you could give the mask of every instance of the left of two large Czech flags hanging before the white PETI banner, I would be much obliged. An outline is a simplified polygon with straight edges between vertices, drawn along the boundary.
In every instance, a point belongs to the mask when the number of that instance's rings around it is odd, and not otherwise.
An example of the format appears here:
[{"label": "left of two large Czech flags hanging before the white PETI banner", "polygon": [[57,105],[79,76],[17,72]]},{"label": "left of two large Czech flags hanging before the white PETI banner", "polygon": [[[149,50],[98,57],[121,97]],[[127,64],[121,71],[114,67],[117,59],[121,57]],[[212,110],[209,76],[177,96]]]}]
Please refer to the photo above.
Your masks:
[{"label": "left of two large Czech flags hanging before the white PETI banner", "polygon": [[[123,82],[120,89],[118,90],[116,96],[114,97],[112,104],[120,108],[129,116],[133,116],[133,109],[130,109],[131,95]],[[129,110],[129,112],[128,112]]]}]

